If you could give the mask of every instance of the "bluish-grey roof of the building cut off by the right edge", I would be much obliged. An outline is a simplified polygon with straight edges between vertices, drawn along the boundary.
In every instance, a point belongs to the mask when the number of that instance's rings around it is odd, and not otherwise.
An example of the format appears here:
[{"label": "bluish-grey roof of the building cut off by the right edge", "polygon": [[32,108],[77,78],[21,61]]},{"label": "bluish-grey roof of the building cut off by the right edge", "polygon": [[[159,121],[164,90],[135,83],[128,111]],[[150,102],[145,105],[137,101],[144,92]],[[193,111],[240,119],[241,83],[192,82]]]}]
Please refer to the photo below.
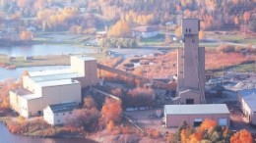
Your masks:
[{"label": "bluish-grey roof of the building cut off by the right edge", "polygon": [[237,92],[253,112],[256,112],[256,88],[244,89]]}]

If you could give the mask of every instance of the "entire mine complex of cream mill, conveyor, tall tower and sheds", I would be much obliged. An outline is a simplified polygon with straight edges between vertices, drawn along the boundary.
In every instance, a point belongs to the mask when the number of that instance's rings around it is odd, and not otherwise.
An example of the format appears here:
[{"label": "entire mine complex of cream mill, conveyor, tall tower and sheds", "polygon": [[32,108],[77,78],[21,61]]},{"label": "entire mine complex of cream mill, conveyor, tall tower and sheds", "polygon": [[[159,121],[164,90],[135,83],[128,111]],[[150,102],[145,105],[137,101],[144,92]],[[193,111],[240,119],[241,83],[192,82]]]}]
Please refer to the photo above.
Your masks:
[{"label": "entire mine complex of cream mill, conveyor, tall tower and sheds", "polygon": [[[23,77],[23,86],[10,91],[12,109],[25,118],[43,115],[49,124],[63,124],[82,102],[82,89],[95,86],[100,71],[110,71],[152,87],[176,91],[169,105],[163,105],[165,127],[177,127],[183,121],[198,126],[204,119],[215,119],[219,125],[230,124],[225,104],[206,104],[205,48],[199,47],[200,21],[182,20],[183,48],[178,49],[177,80],[164,83],[131,72],[121,71],[96,63],[87,56],[71,56],[69,70],[35,71]],[[256,124],[255,89],[238,91],[241,109],[248,120]]]}]

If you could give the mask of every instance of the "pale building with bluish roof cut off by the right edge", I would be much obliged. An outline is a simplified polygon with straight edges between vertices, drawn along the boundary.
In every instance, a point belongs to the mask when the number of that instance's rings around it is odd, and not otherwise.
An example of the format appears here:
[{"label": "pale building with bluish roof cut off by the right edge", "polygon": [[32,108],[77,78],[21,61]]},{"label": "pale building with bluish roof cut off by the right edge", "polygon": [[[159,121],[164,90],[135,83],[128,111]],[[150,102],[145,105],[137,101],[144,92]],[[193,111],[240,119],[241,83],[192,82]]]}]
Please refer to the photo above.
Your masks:
[{"label": "pale building with bluish roof cut off by the right edge", "polygon": [[244,117],[256,124],[256,88],[238,91],[237,98]]}]

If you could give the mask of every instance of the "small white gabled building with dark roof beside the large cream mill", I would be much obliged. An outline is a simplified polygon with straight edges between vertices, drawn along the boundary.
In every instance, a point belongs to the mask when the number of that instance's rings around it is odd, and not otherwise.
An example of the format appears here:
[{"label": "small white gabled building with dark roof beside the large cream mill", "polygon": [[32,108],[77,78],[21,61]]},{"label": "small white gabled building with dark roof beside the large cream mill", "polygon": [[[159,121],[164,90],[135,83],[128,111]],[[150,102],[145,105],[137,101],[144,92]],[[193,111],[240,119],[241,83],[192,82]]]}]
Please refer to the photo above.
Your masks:
[{"label": "small white gabled building with dark roof beside the large cream mill", "polygon": [[65,124],[77,108],[76,102],[49,105],[43,110],[43,119],[51,125]]}]

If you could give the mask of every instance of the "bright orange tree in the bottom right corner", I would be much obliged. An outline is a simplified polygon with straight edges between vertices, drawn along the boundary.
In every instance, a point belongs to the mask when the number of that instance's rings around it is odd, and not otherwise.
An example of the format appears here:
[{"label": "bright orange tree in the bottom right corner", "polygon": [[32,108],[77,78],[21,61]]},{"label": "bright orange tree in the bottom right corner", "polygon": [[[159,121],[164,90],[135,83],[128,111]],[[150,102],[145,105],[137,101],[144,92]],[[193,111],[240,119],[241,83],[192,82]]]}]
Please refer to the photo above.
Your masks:
[{"label": "bright orange tree in the bottom right corner", "polygon": [[246,129],[242,129],[236,132],[230,138],[230,143],[242,143],[242,142],[253,143],[252,134]]}]

